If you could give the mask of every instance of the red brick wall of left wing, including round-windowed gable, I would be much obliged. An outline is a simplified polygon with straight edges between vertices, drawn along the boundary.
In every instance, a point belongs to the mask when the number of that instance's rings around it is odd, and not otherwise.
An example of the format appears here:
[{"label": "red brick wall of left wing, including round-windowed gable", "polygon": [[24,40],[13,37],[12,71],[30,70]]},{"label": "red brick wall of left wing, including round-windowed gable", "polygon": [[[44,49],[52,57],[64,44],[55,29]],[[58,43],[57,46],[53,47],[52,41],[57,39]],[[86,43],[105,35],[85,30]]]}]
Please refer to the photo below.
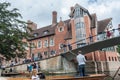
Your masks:
[{"label": "red brick wall of left wing, including round-windowed gable", "polygon": [[[63,31],[62,32],[58,31],[59,27],[63,27]],[[40,38],[40,39],[36,39],[36,40],[32,40],[31,41],[36,46],[36,48],[32,49],[32,53],[34,53],[34,55],[37,55],[37,53],[40,52],[44,58],[46,57],[44,55],[45,51],[50,52],[51,50],[55,50],[56,54],[59,54],[59,51],[60,51],[59,50],[59,44],[60,43],[67,44],[67,42],[64,40],[66,32],[67,32],[67,26],[66,26],[66,24],[64,24],[63,22],[59,22],[59,26],[57,26],[56,29],[55,29],[55,35],[53,35],[53,36],[47,36],[47,37],[44,37],[44,38]],[[45,40],[50,41],[50,38],[54,38],[54,46],[44,47],[44,41]],[[37,44],[38,44],[39,40],[42,41],[42,47],[41,48],[37,47]],[[30,54],[30,51],[28,50],[28,54],[27,54],[28,57],[29,57],[29,54]]]}]

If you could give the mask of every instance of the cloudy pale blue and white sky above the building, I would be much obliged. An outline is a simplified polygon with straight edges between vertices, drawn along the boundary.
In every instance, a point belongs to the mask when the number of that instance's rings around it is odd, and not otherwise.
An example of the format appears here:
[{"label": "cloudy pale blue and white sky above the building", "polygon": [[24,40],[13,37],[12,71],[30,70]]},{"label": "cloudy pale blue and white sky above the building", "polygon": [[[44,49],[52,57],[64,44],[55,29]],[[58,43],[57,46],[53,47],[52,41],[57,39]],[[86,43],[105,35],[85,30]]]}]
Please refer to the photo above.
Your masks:
[{"label": "cloudy pale blue and white sky above the building", "polygon": [[70,7],[76,3],[97,14],[98,20],[113,18],[113,26],[120,23],[120,0],[0,0],[10,2],[11,7],[18,8],[23,20],[31,20],[38,27],[51,24],[52,11],[57,11],[58,21],[69,19]]}]

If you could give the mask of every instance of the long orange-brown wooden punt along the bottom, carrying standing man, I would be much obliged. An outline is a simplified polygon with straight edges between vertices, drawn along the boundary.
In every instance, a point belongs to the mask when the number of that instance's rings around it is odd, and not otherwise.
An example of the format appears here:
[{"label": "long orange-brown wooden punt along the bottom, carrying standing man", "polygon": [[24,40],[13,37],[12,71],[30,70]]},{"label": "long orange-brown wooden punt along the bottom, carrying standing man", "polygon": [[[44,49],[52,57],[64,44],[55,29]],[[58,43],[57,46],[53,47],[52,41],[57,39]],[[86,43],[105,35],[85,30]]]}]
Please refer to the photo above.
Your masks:
[{"label": "long orange-brown wooden punt along the bottom, carrying standing man", "polygon": [[[41,80],[104,80],[107,77],[105,74],[93,74],[85,77],[74,77],[69,75],[62,75],[62,76],[46,76],[45,79]],[[8,80],[31,80],[30,78],[25,77],[15,77],[9,78]]]}]

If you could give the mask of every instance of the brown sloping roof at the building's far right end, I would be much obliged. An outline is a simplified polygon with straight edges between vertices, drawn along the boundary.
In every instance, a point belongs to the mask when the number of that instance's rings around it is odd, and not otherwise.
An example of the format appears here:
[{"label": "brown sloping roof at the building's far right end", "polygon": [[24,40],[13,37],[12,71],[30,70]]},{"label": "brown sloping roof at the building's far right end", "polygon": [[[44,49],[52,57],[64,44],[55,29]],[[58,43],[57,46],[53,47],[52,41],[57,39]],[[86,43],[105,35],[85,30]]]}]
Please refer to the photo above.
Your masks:
[{"label": "brown sloping roof at the building's far right end", "polygon": [[98,33],[103,32],[111,20],[112,18],[107,18],[107,19],[98,21],[98,30],[97,30]]}]

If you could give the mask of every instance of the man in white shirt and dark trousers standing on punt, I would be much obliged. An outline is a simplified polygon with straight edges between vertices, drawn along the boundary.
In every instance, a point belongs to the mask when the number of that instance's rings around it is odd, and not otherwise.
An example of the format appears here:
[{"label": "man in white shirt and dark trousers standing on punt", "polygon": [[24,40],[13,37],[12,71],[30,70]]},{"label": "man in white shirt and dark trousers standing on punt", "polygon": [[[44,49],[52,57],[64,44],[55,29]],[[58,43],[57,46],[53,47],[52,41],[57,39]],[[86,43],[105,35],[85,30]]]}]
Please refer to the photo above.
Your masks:
[{"label": "man in white shirt and dark trousers standing on punt", "polygon": [[78,51],[78,55],[76,57],[77,62],[78,62],[78,70],[79,70],[79,75],[80,76],[85,76],[85,62],[86,59],[84,57],[84,55],[82,55],[81,51]]}]

